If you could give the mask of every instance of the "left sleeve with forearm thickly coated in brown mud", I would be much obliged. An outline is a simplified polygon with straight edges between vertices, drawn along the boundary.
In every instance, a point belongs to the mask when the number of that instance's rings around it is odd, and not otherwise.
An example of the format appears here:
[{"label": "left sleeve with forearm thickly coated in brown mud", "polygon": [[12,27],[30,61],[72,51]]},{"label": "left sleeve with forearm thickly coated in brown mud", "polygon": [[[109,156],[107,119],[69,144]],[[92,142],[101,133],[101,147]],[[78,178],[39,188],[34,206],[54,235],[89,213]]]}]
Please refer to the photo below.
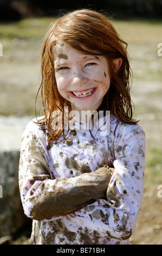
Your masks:
[{"label": "left sleeve with forearm thickly coated in brown mud", "polygon": [[23,133],[19,182],[25,215],[51,221],[99,198],[106,198],[111,170],[107,167],[74,178],[55,179],[45,132],[29,123]]}]

